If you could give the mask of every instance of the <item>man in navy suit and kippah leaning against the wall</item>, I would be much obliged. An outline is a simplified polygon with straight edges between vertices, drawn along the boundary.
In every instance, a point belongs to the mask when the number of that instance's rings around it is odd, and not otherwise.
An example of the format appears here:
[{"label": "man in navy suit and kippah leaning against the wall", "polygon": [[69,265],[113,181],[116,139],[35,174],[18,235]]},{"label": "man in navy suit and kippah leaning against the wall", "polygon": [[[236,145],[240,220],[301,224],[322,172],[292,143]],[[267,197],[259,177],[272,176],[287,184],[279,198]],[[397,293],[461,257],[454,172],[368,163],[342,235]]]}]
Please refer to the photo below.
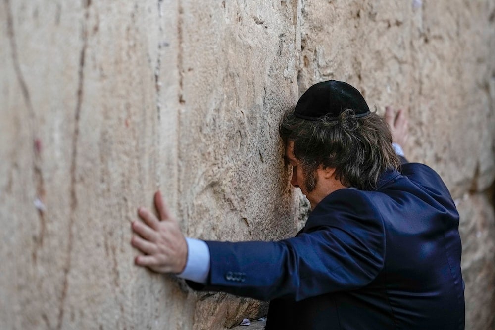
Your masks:
[{"label": "man in navy suit and kippah leaning against the wall", "polygon": [[[387,108],[396,137],[402,112]],[[459,217],[440,177],[402,165],[383,118],[352,86],[311,86],[281,125],[292,185],[312,212],[294,238],[198,241],[162,221],[135,221],[136,264],[195,289],[271,300],[266,329],[464,329]]]}]

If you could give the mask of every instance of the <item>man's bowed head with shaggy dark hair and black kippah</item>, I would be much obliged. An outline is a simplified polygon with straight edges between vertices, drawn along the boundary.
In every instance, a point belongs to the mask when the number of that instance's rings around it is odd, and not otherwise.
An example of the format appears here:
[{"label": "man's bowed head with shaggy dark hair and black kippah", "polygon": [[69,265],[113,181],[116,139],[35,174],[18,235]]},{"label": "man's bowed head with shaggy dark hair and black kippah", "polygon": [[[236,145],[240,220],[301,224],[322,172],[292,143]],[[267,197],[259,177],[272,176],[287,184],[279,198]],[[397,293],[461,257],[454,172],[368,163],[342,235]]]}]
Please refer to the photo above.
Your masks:
[{"label": "man's bowed head with shaggy dark hair and black kippah", "polygon": [[316,189],[319,168],[333,170],[345,187],[369,190],[380,174],[400,164],[387,123],[344,82],[311,86],[284,116],[280,133],[302,168],[303,192]]}]

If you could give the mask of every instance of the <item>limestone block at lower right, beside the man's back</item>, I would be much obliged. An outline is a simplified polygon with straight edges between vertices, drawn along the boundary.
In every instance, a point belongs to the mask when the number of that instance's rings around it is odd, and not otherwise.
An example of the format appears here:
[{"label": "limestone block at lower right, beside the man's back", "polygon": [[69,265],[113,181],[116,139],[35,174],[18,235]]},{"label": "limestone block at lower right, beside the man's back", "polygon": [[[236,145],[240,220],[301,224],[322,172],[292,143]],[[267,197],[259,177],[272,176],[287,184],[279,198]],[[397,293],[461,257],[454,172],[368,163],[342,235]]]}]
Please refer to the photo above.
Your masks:
[{"label": "limestone block at lower right, beside the man's back", "polygon": [[466,194],[456,200],[462,240],[466,329],[495,326],[495,215],[492,194]]}]

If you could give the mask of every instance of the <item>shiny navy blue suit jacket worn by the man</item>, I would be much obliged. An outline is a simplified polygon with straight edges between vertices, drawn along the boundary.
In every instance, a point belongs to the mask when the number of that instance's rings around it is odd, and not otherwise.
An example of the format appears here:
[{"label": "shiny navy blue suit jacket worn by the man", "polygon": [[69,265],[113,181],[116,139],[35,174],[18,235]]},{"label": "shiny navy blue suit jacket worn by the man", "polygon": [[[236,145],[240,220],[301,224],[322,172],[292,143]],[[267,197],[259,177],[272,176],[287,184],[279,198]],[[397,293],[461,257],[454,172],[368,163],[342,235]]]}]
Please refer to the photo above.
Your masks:
[{"label": "shiny navy blue suit jacket worn by the man", "polygon": [[294,238],[207,241],[206,286],[271,300],[266,329],[464,329],[459,216],[422,164],[324,198]]}]

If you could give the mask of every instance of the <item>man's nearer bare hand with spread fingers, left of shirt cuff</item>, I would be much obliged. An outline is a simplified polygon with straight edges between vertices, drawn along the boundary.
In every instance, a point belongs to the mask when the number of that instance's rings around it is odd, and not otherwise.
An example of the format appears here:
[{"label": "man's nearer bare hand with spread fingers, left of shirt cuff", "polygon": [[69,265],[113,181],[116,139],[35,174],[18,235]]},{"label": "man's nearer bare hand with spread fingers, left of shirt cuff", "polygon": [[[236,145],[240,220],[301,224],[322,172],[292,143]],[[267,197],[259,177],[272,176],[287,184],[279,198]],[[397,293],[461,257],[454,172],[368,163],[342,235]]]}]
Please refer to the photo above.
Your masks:
[{"label": "man's nearer bare hand with spread fingers, left of shirt cuff", "polygon": [[132,246],[144,253],[135,263],[158,273],[182,273],[187,262],[187,243],[179,224],[163,202],[160,191],[154,195],[158,217],[140,207],[138,214],[144,222],[134,221]]}]

